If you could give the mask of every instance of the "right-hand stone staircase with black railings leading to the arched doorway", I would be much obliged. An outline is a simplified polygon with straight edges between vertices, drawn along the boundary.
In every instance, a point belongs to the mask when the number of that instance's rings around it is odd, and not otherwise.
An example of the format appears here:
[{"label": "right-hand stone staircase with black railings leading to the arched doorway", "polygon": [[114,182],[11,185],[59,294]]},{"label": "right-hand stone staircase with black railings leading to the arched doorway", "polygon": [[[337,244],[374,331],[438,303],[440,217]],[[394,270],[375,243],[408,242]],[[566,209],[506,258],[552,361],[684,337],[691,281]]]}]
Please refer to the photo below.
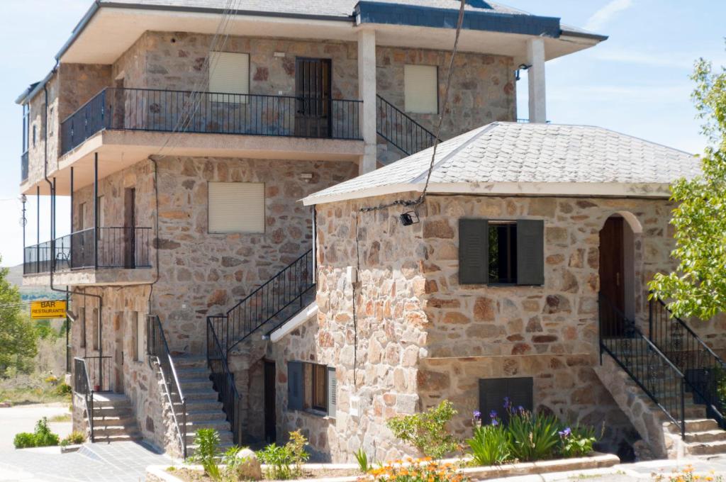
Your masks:
[{"label": "right-hand stone staircase with black railings leading to the arched doorway", "polygon": [[597,376],[648,447],[650,453],[639,457],[726,454],[724,410],[715,381],[724,363],[664,303],[650,303],[646,336],[600,297],[600,333],[603,324],[613,322],[624,332],[601,336]]}]

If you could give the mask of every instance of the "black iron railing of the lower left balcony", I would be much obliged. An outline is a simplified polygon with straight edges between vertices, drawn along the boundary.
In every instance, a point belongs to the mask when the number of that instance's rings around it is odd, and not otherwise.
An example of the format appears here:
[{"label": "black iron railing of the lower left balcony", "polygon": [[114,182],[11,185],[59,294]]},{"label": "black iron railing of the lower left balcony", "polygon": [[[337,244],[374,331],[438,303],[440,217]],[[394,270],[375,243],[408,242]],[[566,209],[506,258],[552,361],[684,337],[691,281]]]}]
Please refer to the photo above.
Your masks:
[{"label": "black iron railing of the lower left balcony", "polygon": [[23,274],[97,268],[149,268],[151,228],[88,228],[28,246]]}]

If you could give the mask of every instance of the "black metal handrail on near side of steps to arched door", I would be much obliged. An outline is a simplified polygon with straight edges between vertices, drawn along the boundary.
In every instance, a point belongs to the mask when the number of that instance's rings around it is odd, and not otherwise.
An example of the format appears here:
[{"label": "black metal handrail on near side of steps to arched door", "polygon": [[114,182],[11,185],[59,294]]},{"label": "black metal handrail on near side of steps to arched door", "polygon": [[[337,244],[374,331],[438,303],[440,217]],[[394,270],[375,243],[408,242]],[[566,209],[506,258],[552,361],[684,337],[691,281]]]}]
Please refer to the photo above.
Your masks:
[{"label": "black metal handrail on near side of steps to arched door", "polygon": [[[685,385],[683,373],[608,298],[599,296],[600,356],[603,352],[643,389],[685,436]],[[619,323],[624,336],[603,338],[603,327]]]}]

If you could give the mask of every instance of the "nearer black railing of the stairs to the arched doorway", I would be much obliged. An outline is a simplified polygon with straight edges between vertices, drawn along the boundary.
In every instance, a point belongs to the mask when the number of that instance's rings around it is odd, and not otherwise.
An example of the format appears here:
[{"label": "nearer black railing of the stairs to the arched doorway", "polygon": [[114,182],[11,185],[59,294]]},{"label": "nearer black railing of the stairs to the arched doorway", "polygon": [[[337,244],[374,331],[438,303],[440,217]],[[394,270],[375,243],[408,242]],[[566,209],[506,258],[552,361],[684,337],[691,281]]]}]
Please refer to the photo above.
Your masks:
[{"label": "nearer black railing of the stairs to the arched doorway", "polygon": [[[599,324],[600,324],[600,330],[599,330],[599,338],[600,338],[600,361],[602,362],[602,354],[603,351],[608,353],[613,360],[616,362],[616,364],[621,367],[621,369],[626,372],[629,377],[643,390],[645,395],[650,398],[651,401],[653,401],[656,406],[661,409],[664,414],[666,414],[666,417],[668,417],[674,424],[678,425],[680,428],[680,434],[682,438],[685,438],[685,384],[686,384],[686,378],[685,375],[683,375],[683,372],[676,367],[673,362],[653,343],[646,337],[643,332],[635,325],[635,322],[633,322],[631,319],[627,318],[625,314],[620,311],[616,306],[613,305],[613,303],[605,297],[602,293],[599,293],[598,295],[598,305],[599,305]],[[633,360],[639,359],[639,356],[643,355],[643,353],[638,353],[637,356],[632,356],[632,354],[624,354],[623,356],[618,356],[614,351],[607,346],[605,343],[605,340],[603,339],[603,306],[609,309],[612,314],[615,316],[619,316],[621,318],[621,322],[626,324],[627,326],[627,335],[629,335],[628,338],[614,338],[613,340],[616,340],[616,343],[619,340],[642,340],[645,342],[645,348],[648,349],[651,353],[658,356],[658,359],[660,359],[661,363],[663,363],[666,367],[672,370],[672,372],[677,375],[677,378],[680,379],[679,388],[680,390],[677,393],[673,393],[677,401],[677,411],[680,412],[680,417],[678,414],[672,414],[672,409],[666,408],[666,405],[664,404],[663,400],[658,400],[658,396],[656,396],[655,393],[653,393],[650,388],[645,386],[645,381],[641,380],[641,377],[637,375],[637,373],[634,373],[634,369],[637,372],[638,369],[642,369],[642,367],[634,367],[631,369],[630,367],[627,367],[628,358]],[[638,350],[638,348],[636,348]],[[649,370],[651,367],[645,367],[646,370]],[[665,397],[664,397],[665,398]]]}]

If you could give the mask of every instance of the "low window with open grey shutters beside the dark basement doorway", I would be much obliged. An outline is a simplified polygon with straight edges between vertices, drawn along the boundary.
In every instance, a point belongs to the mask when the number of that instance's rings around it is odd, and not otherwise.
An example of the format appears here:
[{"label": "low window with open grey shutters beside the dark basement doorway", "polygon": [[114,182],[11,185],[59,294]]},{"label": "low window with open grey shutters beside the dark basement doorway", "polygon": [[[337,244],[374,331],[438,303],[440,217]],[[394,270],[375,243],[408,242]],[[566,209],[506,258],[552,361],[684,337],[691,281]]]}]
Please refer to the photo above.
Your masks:
[{"label": "low window with open grey shutters beside the dark basement doorway", "polygon": [[287,363],[287,407],[335,417],[338,380],[335,368],[317,363]]}]

